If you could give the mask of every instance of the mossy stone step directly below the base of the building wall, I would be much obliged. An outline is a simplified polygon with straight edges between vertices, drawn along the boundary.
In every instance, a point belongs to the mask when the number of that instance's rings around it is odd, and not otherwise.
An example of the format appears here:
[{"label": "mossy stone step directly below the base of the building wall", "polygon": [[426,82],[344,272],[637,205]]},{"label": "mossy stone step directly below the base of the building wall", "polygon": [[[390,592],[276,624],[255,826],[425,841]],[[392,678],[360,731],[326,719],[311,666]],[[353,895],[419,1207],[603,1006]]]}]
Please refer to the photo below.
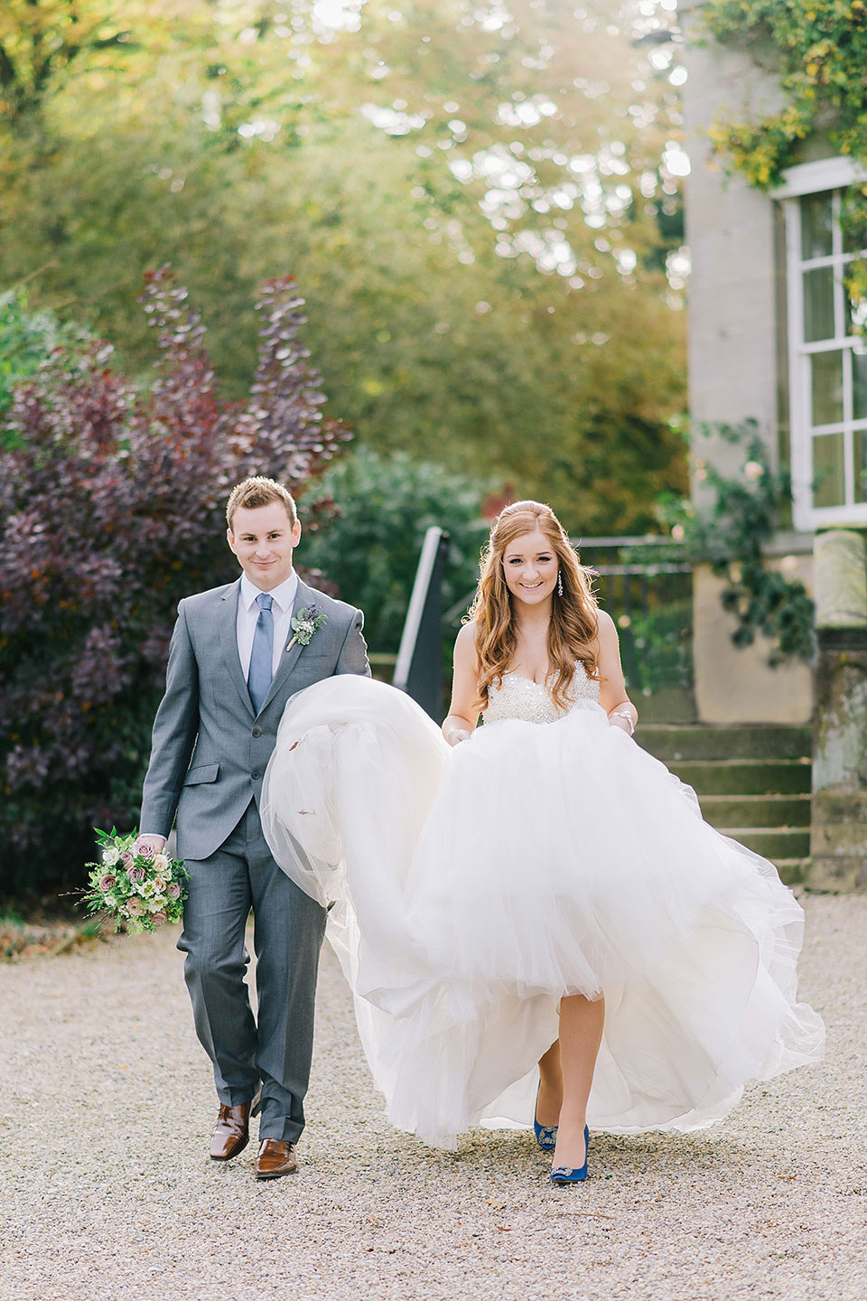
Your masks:
[{"label": "mossy stone step directly below the base of the building wall", "polygon": [[749,727],[642,723],[636,732],[636,740],[666,764],[681,758],[803,758],[812,749],[810,727],[784,727],[772,723],[755,723]]}]

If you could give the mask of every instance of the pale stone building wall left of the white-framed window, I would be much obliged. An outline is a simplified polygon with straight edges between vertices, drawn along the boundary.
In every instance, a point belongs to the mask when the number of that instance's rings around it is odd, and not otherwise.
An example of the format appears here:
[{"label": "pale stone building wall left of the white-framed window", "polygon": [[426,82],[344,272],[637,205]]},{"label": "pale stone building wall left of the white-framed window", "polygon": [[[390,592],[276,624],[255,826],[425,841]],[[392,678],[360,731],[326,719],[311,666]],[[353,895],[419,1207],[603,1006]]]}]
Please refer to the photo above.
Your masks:
[{"label": "pale stone building wall left of the white-framed window", "polygon": [[[685,147],[692,170],[685,182],[689,285],[689,401],[693,427],[758,422],[771,463],[780,450],[785,392],[785,269],[780,217],[767,195],[712,160],[706,131],[720,109],[733,114],[772,112],[780,104],[773,75],[753,53],[714,42],[698,44],[703,0],[681,0]],[[783,364],[781,364],[783,360]],[[785,416],[783,416],[785,420]],[[724,472],[740,467],[741,453],[719,440],[694,437],[694,453]],[[701,501],[701,481],[693,496]],[[785,548],[783,548],[785,552]],[[780,562],[811,585],[811,543],[792,539]],[[695,708],[703,722],[806,722],[812,682],[806,665],[772,670],[768,647],[740,650],[733,621],[719,604],[719,583],[699,571],[694,597]]]}]

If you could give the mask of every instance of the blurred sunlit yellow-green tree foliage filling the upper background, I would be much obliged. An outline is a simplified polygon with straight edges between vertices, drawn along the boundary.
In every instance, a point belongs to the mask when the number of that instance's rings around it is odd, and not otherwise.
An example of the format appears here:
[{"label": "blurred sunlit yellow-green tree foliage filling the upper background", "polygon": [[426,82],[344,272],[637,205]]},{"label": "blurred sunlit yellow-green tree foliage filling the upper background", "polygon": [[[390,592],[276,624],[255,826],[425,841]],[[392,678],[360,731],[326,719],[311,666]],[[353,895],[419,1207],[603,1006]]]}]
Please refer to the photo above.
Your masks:
[{"label": "blurred sunlit yellow-green tree foliage filling the upper background", "polygon": [[[71,8],[9,22],[62,33]],[[584,17],[368,0],[331,5],[331,26],[322,8],[92,0],[95,39],[117,39],[68,42],[5,122],[0,276],[52,264],[44,302],[74,304],[135,372],[134,285],[169,259],[239,394],[252,285],[291,264],[364,442],[495,472],[584,531],[647,527],[685,483],[664,70],[602,0]]]}]

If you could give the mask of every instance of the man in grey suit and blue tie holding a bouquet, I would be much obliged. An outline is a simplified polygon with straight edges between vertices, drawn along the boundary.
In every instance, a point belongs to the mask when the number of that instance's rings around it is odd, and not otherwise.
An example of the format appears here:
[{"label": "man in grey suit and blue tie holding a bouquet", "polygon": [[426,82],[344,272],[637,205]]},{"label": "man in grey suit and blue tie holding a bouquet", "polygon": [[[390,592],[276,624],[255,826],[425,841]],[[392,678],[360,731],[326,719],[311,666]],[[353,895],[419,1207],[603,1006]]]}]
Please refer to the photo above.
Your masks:
[{"label": "man in grey suit and blue tie holding a bouquet", "polygon": [[[256,1179],[279,1179],[296,1168],[304,1128],[325,911],[274,863],[259,817],[261,783],[289,697],[333,674],[370,670],[361,611],[292,569],[302,526],[289,492],[246,479],[226,519],[243,572],[178,606],[139,846],[162,848],[177,813],[190,872],[178,948],[220,1098],[211,1155],[242,1151],[251,1107],[261,1107]],[[251,907],[256,1019],[244,981]]]}]

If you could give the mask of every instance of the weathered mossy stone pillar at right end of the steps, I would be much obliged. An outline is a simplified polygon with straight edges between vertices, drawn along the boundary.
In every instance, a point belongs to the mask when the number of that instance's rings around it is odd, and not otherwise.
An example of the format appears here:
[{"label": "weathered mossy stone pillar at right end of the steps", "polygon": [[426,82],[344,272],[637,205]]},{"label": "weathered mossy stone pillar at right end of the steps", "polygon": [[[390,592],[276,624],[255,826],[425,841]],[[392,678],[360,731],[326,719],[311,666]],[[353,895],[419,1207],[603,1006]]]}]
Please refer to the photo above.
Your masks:
[{"label": "weathered mossy stone pillar at right end of the steps", "polygon": [[851,530],[815,541],[812,890],[867,887],[867,561]]}]

